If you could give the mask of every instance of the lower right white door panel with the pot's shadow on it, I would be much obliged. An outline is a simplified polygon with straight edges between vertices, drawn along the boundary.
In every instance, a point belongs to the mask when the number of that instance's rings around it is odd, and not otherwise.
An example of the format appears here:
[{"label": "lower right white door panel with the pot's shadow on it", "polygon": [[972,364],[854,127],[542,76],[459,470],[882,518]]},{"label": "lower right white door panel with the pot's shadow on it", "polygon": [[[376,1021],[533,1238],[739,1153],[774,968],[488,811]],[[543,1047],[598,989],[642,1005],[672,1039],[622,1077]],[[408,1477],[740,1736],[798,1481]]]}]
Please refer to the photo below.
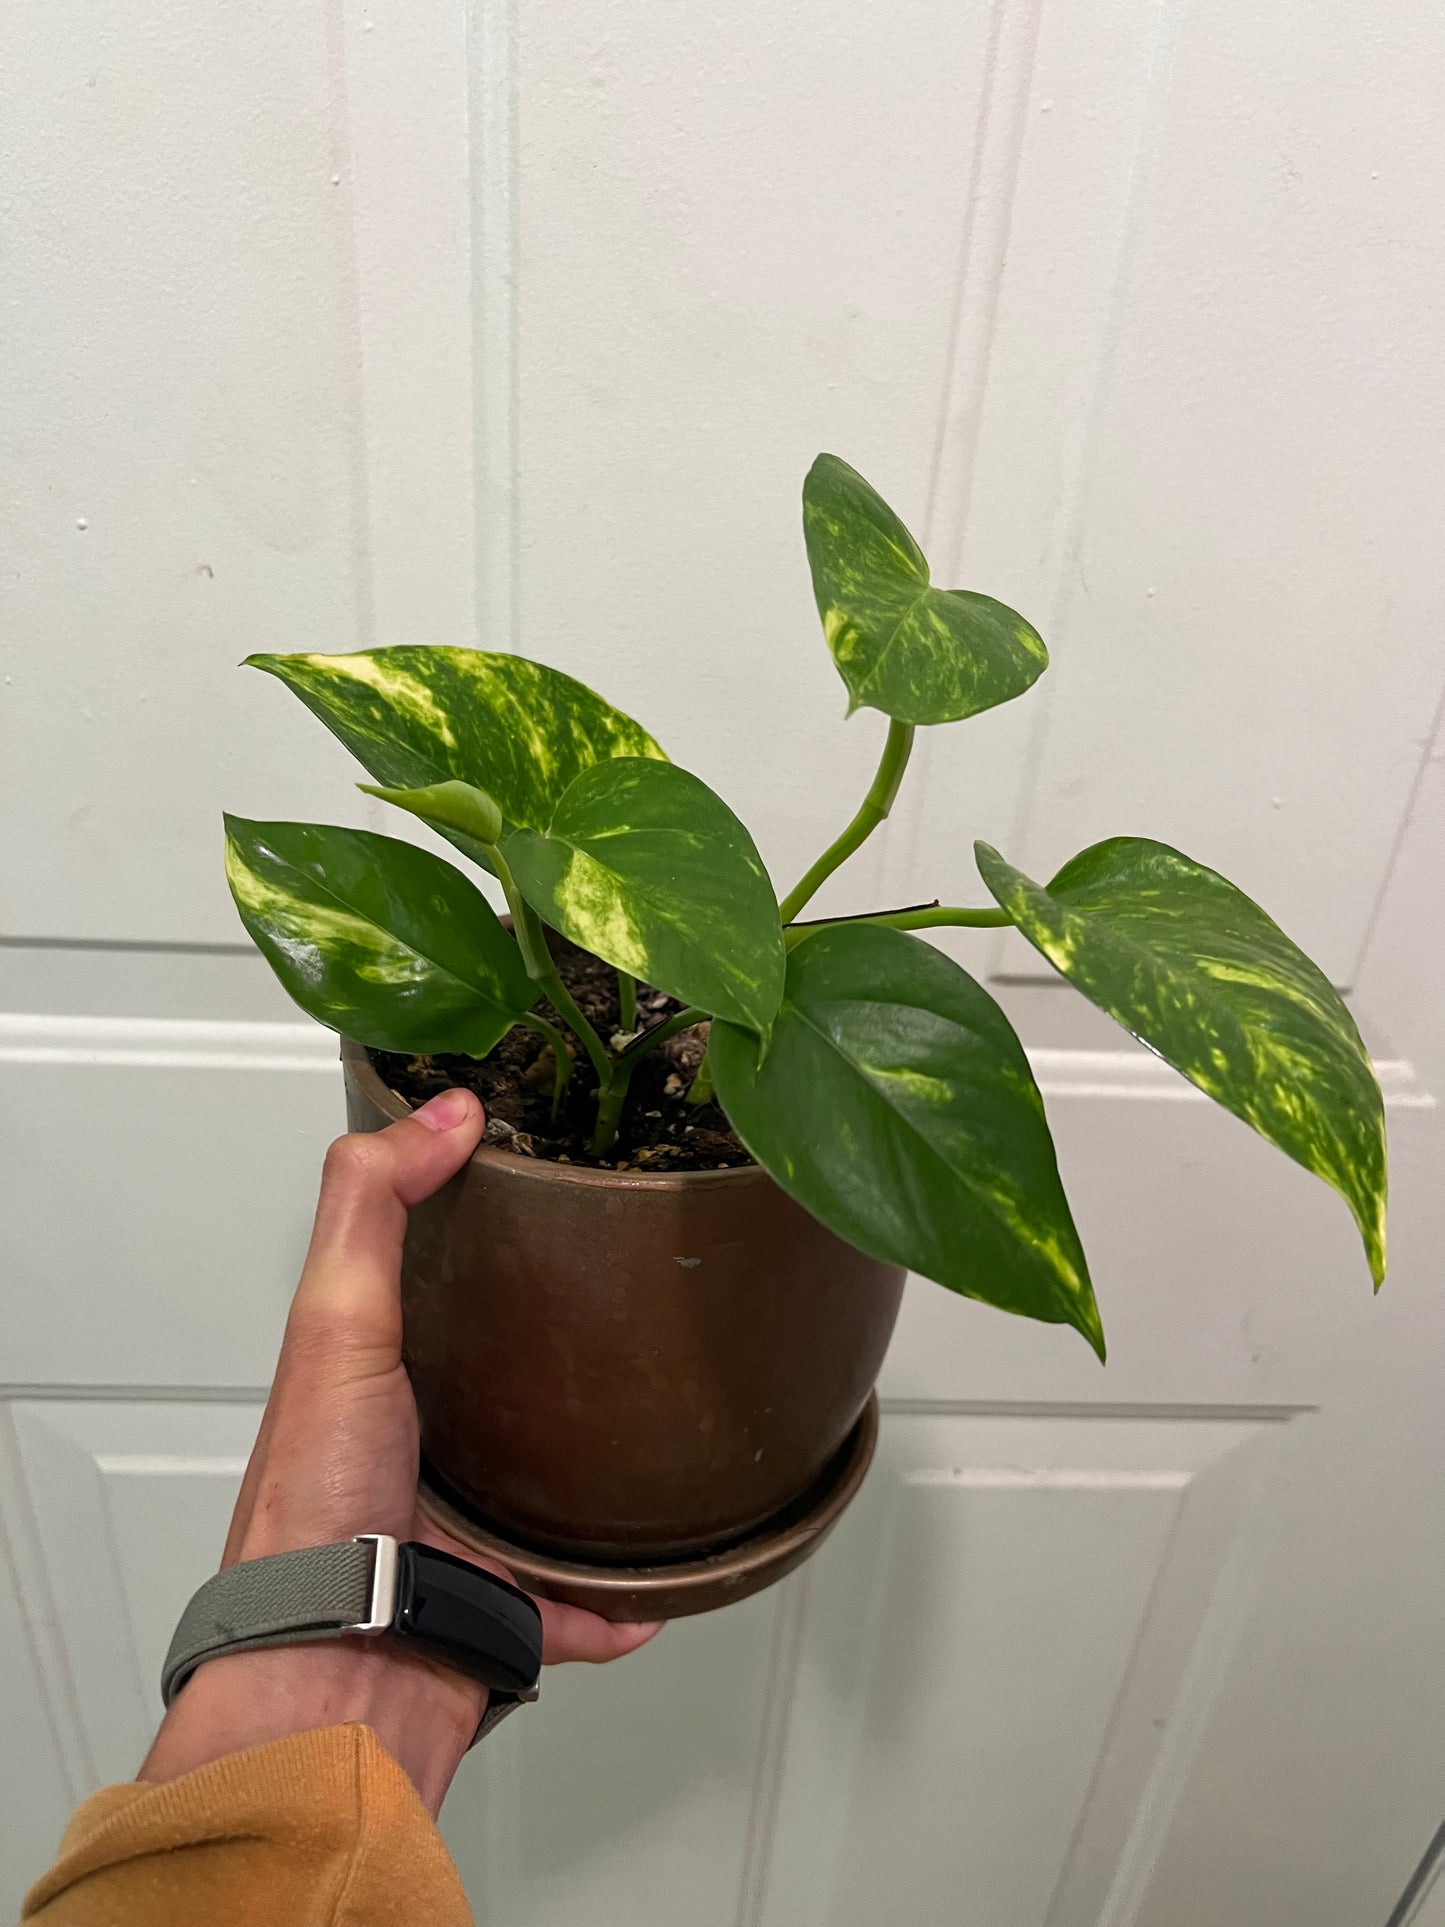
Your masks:
[{"label": "lower right white door panel with the pot's shadow on it", "polygon": [[807,1576],[763,1923],[1100,1919],[1227,1669],[1277,1432],[892,1418]]}]

